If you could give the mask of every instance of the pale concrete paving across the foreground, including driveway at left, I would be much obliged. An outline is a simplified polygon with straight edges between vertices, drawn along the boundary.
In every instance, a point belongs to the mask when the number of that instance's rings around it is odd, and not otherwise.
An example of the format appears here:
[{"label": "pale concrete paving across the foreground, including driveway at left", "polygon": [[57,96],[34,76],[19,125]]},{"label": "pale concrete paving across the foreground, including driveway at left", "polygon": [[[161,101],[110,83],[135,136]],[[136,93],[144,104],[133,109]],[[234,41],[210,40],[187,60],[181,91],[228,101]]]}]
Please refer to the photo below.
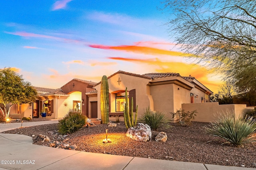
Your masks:
[{"label": "pale concrete paving across the foreground, including driveway at left", "polygon": [[[27,126],[38,125],[38,122],[31,123]],[[26,135],[6,133],[0,133],[0,162],[0,170],[255,170],[56,149],[32,145],[32,137]]]}]

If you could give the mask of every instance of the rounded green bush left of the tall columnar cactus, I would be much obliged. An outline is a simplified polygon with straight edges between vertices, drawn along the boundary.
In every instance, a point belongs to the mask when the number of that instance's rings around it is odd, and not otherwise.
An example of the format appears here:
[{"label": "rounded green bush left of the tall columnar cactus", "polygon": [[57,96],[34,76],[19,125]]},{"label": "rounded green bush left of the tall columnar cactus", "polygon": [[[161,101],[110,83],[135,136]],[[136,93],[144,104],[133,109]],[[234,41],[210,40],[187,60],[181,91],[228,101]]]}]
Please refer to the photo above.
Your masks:
[{"label": "rounded green bush left of the tall columnar cactus", "polygon": [[59,133],[73,133],[78,129],[82,128],[86,124],[87,117],[85,115],[81,115],[79,111],[69,110],[68,114],[59,120]]}]

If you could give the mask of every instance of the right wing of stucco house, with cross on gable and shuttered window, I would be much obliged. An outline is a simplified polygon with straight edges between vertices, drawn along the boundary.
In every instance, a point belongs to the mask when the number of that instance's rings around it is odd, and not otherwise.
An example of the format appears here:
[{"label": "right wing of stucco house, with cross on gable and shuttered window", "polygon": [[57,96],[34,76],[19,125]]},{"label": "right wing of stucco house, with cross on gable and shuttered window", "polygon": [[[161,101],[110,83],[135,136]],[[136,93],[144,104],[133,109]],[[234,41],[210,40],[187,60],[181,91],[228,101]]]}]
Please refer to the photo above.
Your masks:
[{"label": "right wing of stucco house, with cross on gable and shuttered window", "polygon": [[[89,102],[89,117],[101,117],[100,85],[101,82],[95,84],[95,90],[86,93]],[[146,107],[150,107],[153,111],[169,113],[182,108],[184,103],[210,102],[210,95],[213,94],[196,78],[183,77],[178,73],[140,75],[119,70],[108,76],[108,85],[110,116],[123,115],[126,87],[129,96],[127,102],[130,104],[133,97],[133,110],[135,111],[138,105],[138,116],[144,112]]]}]

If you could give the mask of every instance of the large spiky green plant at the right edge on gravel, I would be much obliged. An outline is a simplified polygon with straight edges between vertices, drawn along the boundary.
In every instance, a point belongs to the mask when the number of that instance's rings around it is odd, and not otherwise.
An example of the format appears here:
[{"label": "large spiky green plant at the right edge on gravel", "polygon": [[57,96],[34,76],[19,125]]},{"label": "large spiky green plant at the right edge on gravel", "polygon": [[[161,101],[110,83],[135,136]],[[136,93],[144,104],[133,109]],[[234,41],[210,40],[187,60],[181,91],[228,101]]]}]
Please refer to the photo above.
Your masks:
[{"label": "large spiky green plant at the right edge on gravel", "polygon": [[233,145],[242,145],[256,141],[252,136],[256,130],[256,119],[252,117],[235,117],[235,114],[222,115],[216,122],[206,127],[206,133],[221,137]]}]

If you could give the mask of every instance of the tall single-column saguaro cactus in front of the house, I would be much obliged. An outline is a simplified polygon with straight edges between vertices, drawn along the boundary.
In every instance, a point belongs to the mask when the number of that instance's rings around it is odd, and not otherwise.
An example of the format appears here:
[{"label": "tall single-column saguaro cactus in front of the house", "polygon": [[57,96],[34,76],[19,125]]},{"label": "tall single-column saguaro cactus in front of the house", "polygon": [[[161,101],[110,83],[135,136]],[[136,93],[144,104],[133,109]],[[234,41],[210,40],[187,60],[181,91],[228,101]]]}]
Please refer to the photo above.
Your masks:
[{"label": "tall single-column saguaro cactus in front of the house", "polygon": [[109,112],[109,99],[108,99],[108,78],[103,76],[100,86],[100,111],[102,124],[108,124],[108,112]]}]

